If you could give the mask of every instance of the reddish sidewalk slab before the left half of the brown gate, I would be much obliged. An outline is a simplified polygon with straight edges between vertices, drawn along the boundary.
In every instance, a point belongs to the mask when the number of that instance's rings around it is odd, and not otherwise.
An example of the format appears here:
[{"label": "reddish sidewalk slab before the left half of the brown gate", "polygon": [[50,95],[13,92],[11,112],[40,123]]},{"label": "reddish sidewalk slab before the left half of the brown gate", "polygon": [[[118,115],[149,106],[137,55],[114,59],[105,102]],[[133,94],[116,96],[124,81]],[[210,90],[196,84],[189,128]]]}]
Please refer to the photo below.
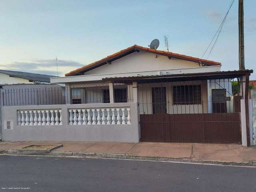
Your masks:
[{"label": "reddish sidewalk slab before the left half of the brown gate", "polygon": [[129,152],[132,156],[189,158],[192,144],[138,143]]}]

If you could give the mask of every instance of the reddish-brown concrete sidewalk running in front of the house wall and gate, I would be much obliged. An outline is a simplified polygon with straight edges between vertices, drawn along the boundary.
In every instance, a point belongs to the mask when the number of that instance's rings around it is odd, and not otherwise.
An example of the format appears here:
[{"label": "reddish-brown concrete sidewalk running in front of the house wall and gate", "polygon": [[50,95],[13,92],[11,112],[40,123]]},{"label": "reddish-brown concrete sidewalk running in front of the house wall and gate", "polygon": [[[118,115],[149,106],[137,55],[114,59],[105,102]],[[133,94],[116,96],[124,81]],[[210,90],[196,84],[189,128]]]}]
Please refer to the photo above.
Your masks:
[{"label": "reddish-brown concrete sidewalk running in front of the house wall and gate", "polygon": [[256,165],[256,147],[236,144],[26,141],[0,142],[0,153],[18,154],[30,144],[63,144],[45,155]]}]

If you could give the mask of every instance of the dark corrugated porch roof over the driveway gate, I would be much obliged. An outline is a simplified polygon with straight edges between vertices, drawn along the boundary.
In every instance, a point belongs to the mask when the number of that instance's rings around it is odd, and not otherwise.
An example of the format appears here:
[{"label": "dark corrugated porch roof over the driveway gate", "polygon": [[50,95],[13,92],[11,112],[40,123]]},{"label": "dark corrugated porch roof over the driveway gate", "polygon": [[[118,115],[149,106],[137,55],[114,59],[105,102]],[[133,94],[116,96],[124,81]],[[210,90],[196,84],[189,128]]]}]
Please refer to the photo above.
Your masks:
[{"label": "dark corrugated porch roof over the driveway gate", "polygon": [[210,79],[227,79],[238,78],[246,74],[250,75],[253,70],[234,70],[234,71],[219,71],[219,72],[203,72],[203,73],[186,73],[186,74],[166,74],[152,76],[131,76],[131,77],[116,77],[103,78],[116,83],[131,83],[131,82],[170,82],[170,81],[188,81],[188,80],[210,80]]}]

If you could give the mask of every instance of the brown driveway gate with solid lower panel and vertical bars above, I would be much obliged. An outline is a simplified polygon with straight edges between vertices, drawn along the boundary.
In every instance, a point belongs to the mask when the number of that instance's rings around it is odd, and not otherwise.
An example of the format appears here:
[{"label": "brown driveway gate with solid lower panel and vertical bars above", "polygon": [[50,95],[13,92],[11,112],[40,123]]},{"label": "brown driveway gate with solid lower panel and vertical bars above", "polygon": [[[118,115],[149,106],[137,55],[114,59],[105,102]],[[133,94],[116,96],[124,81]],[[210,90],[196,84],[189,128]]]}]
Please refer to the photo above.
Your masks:
[{"label": "brown driveway gate with solid lower panel and vertical bars above", "polygon": [[140,141],[241,143],[231,83],[225,79],[139,84]]}]

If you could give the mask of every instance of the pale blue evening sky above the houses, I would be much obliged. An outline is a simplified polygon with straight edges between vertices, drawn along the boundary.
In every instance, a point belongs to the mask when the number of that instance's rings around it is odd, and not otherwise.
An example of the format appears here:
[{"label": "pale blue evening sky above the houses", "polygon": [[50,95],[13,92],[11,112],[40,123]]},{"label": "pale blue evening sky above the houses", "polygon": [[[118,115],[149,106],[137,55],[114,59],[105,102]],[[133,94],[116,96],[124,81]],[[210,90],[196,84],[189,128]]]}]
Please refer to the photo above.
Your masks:
[{"label": "pale blue evening sky above the houses", "polygon": [[[64,76],[134,44],[201,58],[231,0],[1,0],[0,69]],[[244,0],[246,69],[255,68],[256,1]],[[207,54],[206,57],[207,58]],[[238,0],[209,60],[238,70]],[[256,80],[256,72],[250,79]]]}]

